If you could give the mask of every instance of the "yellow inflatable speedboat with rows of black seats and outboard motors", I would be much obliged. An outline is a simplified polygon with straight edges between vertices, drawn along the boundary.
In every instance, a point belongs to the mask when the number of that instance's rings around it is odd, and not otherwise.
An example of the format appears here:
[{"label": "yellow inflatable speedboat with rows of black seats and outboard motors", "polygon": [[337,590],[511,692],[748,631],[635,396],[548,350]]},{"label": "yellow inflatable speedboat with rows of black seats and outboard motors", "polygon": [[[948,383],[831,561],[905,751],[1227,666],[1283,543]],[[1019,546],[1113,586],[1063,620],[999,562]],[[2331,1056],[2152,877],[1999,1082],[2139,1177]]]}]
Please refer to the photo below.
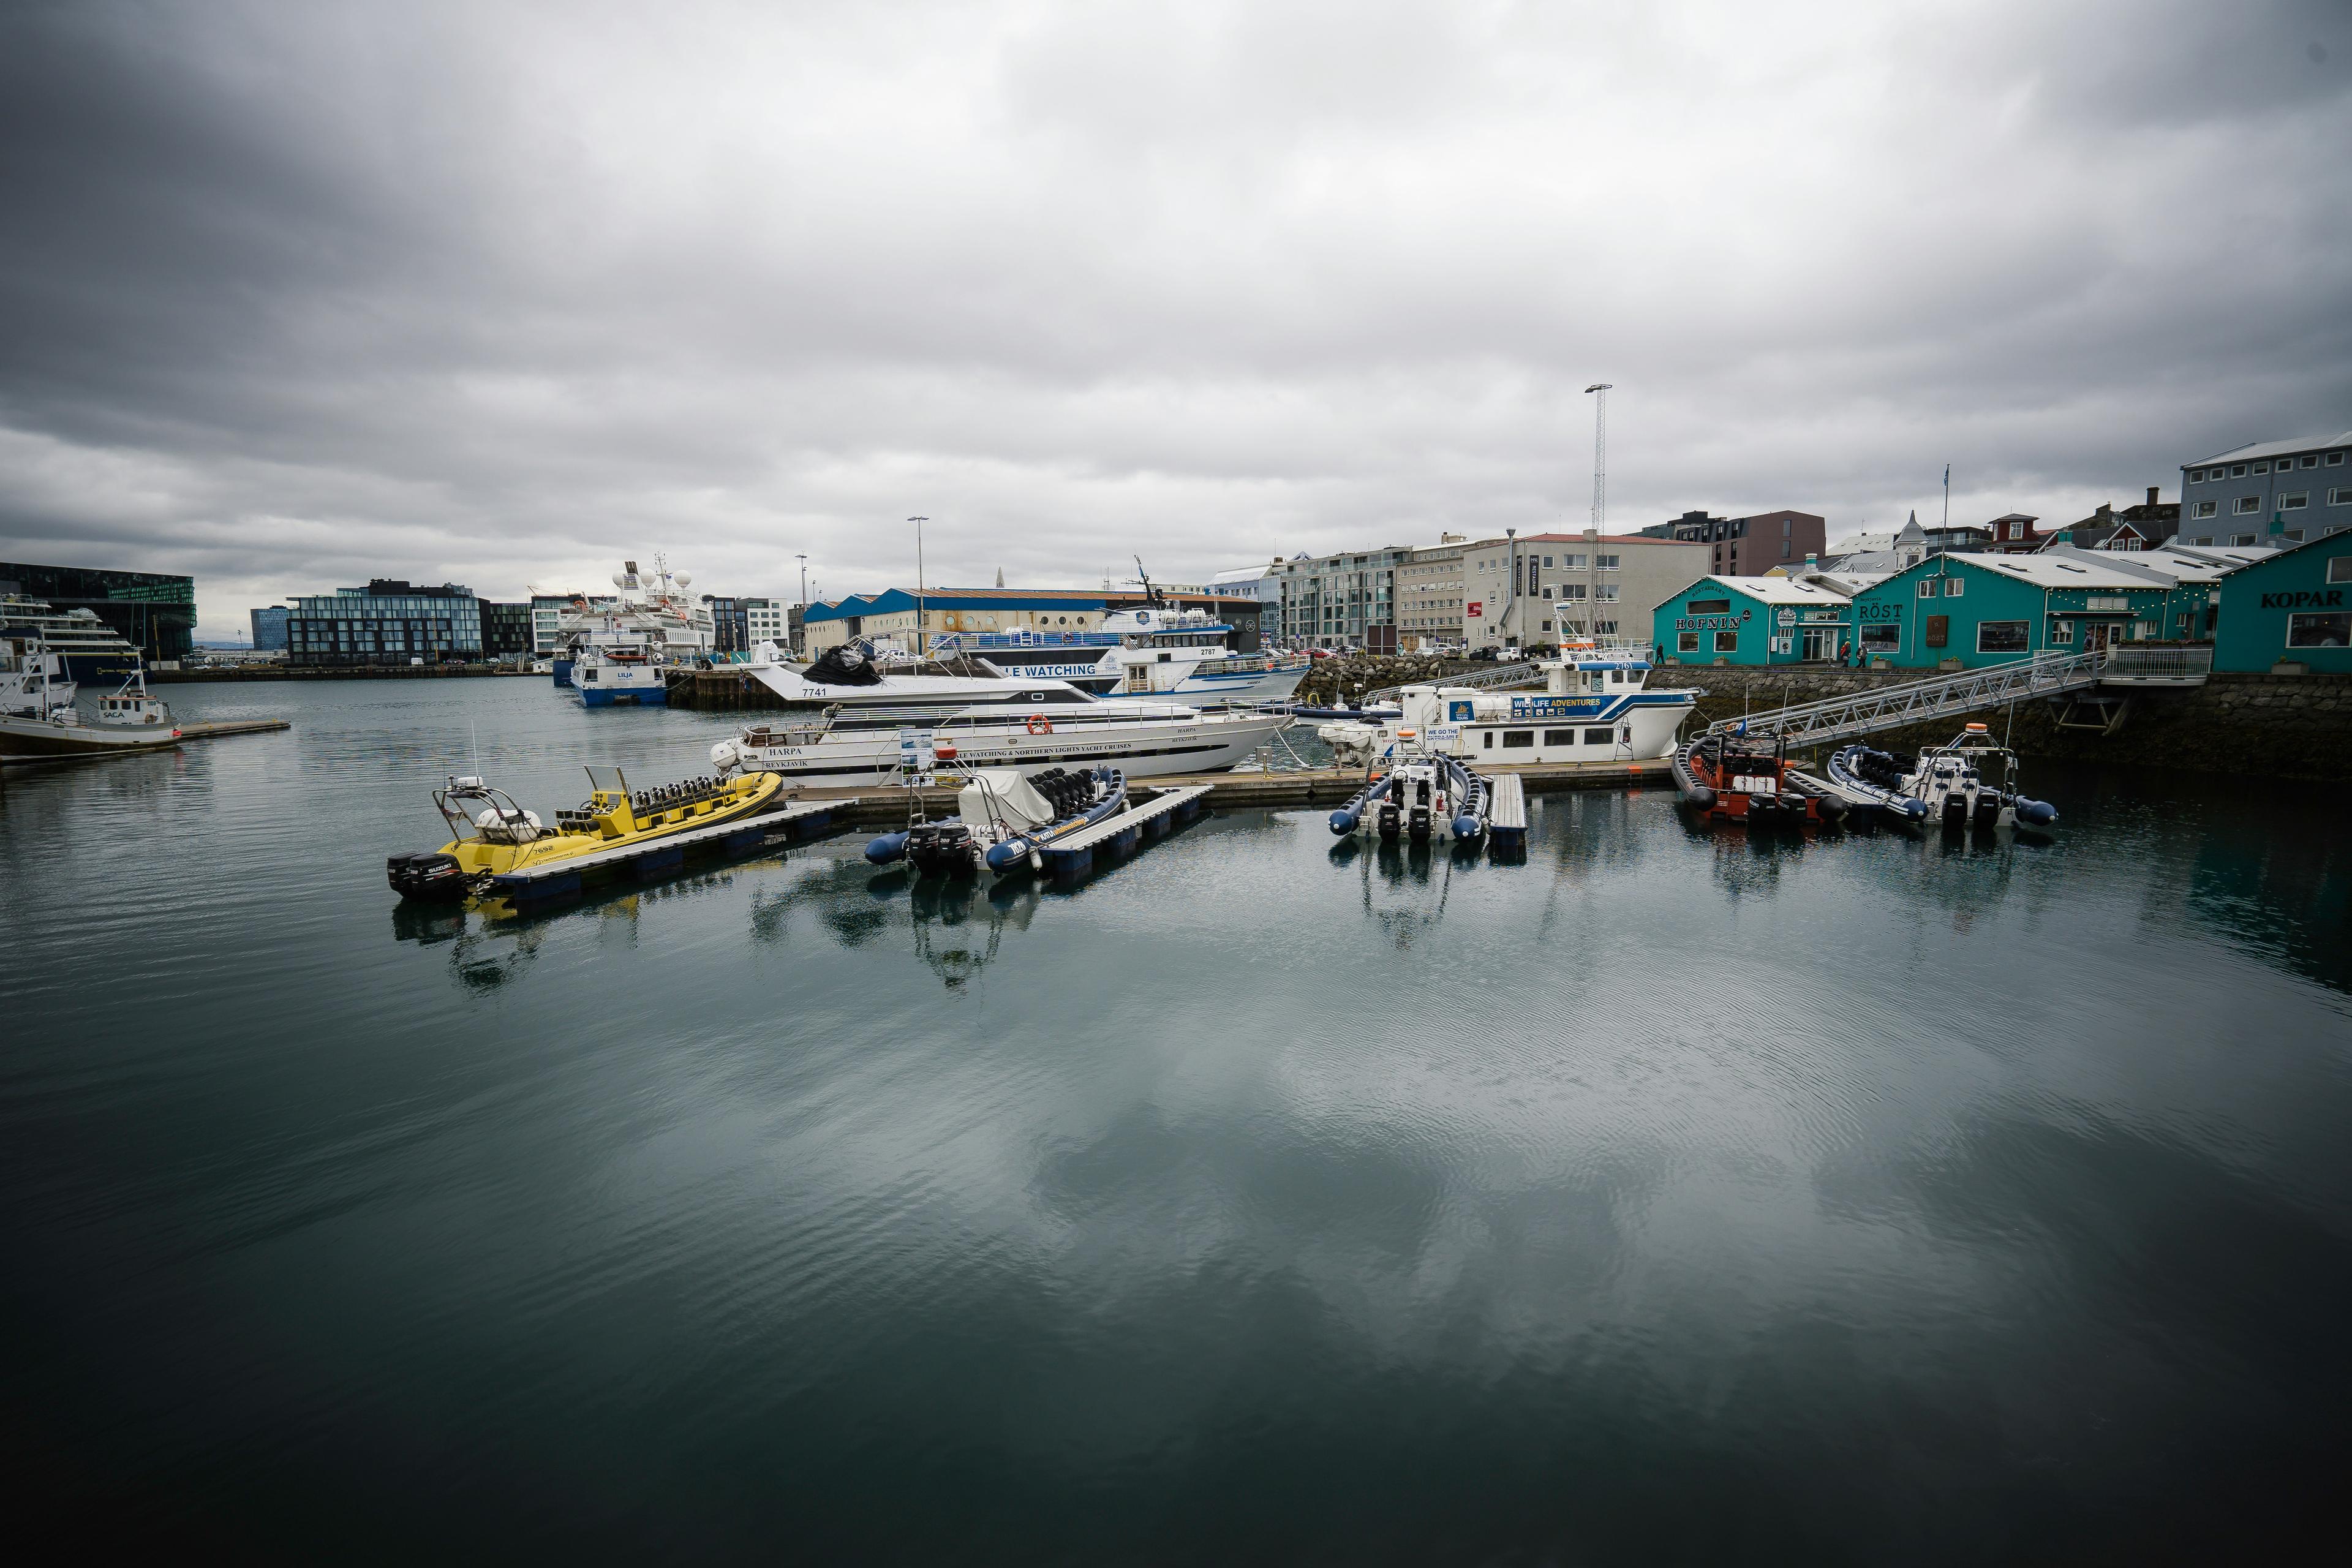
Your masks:
[{"label": "yellow inflatable speedboat with rows of black seats and outboard motors", "polygon": [[781,788],[769,773],[748,773],[630,790],[621,769],[590,766],[588,799],[557,811],[548,827],[536,811],[524,811],[480,776],[452,776],[433,790],[433,806],[454,837],[440,849],[388,856],[383,872],[402,898],[454,903],[485,891],[492,877],[536,872],[609,849],[656,846],[760,816],[779,804]]}]

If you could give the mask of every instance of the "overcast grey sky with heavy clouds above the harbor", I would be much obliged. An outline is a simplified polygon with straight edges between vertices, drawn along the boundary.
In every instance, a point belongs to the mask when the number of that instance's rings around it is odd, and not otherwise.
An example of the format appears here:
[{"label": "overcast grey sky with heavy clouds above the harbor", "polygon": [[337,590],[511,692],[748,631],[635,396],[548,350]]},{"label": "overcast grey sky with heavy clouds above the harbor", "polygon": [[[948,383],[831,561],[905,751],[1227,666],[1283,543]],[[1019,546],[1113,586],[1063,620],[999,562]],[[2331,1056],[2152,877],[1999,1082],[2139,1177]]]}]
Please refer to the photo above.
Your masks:
[{"label": "overcast grey sky with heavy clouds above the harbor", "polygon": [[2352,5],[0,5],[0,559],[202,635],[2079,517],[2352,425]]}]

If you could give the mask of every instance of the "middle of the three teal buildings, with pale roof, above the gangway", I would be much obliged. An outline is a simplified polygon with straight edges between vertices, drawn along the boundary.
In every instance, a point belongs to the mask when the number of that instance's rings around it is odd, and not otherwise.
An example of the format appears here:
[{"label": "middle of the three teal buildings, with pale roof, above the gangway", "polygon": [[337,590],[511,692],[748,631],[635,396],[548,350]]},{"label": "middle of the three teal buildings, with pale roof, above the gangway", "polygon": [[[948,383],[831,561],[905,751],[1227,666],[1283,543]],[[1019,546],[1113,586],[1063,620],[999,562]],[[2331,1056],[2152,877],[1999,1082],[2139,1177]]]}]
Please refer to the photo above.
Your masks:
[{"label": "middle of the three teal buildings, with pale roof, above the gangway", "polygon": [[1853,595],[1867,661],[1964,670],[2173,635],[2183,588],[2145,569],[2065,555],[1931,555]]}]

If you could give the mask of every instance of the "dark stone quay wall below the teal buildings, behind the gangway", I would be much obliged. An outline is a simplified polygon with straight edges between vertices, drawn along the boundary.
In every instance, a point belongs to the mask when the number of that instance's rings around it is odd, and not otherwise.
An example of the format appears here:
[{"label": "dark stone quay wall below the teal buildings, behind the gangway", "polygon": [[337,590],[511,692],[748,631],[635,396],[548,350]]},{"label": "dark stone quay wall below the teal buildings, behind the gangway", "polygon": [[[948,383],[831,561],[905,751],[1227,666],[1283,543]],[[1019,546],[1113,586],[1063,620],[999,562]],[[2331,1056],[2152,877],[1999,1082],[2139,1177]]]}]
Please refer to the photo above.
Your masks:
[{"label": "dark stone quay wall below the teal buildings, behind the gangway", "polygon": [[[1705,686],[1698,715],[1684,733],[1743,710],[1764,712],[1783,703],[1853,696],[1872,686],[1922,679],[1919,670],[1790,670],[1738,665],[1682,665],[1651,675],[1658,686]],[[2030,762],[2133,762],[2194,773],[2277,773],[2281,778],[2336,778],[2352,769],[2352,675],[2213,675],[2204,686],[2150,686],[2131,691],[2131,708],[2114,733],[2063,729],[2063,701],[2037,698],[2009,712],[1973,712],[2009,733]],[[2077,710],[2077,722],[2089,712]],[[1936,719],[1867,736],[1870,745],[1903,752],[1943,745],[1966,719]]]}]

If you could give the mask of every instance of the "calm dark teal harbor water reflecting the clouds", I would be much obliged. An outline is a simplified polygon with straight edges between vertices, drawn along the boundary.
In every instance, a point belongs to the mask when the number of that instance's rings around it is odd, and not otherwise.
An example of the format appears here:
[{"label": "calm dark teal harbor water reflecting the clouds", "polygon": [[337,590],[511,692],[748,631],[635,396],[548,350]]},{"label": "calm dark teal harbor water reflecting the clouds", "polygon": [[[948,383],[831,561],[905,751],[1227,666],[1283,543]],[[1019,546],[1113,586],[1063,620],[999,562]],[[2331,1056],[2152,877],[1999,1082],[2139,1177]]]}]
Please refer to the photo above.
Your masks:
[{"label": "calm dark teal harbor water reflecting the clouds", "polygon": [[[1075,893],[861,837],[397,910],[546,682],[0,797],[7,1439],[75,1528],[336,1556],[1983,1561],[2246,1544],[2352,1394],[2352,830],[2037,769],[2056,839],[1538,802],[1204,820]],[[101,1512],[89,1512],[89,1509]]]}]

